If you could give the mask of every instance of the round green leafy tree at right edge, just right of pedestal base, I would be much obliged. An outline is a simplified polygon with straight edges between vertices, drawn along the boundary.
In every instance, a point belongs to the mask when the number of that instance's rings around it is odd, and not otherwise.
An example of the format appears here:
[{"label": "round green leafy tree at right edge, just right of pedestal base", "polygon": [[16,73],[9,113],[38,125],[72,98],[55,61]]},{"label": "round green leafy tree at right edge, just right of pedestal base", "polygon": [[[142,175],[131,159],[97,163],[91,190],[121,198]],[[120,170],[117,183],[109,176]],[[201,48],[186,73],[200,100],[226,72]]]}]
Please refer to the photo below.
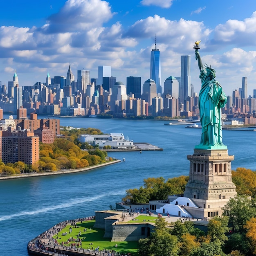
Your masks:
[{"label": "round green leafy tree at right edge, just right of pedestal base", "polygon": [[255,201],[245,195],[230,198],[222,209],[223,215],[229,216],[234,231],[245,231],[246,222],[256,216]]}]

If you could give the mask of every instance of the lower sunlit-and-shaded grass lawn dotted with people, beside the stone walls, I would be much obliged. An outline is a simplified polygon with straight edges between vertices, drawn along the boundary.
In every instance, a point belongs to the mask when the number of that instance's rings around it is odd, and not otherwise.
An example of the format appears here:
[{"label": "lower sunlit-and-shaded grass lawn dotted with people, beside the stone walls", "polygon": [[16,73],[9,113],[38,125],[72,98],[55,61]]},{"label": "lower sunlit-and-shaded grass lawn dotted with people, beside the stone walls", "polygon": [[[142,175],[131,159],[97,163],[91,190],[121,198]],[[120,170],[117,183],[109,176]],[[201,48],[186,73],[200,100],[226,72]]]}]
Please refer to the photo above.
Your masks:
[{"label": "lower sunlit-and-shaded grass lawn dotted with people, beside the stone walls", "polygon": [[[145,217],[145,216],[144,216]],[[147,217],[148,218],[148,217]],[[137,241],[111,242],[111,238],[104,238],[104,229],[94,228],[95,220],[76,222],[74,225],[67,225],[53,238],[58,245],[67,248],[76,247],[84,250],[108,250],[115,251],[120,255],[138,256]]]}]

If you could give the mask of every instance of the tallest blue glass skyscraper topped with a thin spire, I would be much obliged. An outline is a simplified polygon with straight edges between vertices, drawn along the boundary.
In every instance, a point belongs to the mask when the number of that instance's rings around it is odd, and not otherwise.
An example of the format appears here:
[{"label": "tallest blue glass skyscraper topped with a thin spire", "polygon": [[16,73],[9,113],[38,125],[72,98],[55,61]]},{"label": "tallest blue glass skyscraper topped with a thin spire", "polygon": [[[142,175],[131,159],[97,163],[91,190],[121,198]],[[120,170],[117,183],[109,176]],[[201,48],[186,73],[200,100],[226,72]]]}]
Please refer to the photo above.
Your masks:
[{"label": "tallest blue glass skyscraper topped with a thin spire", "polygon": [[155,39],[155,49],[152,49],[150,55],[150,79],[155,81],[157,86],[157,93],[162,94],[162,81],[161,81],[161,61],[160,61],[160,51],[156,46]]}]

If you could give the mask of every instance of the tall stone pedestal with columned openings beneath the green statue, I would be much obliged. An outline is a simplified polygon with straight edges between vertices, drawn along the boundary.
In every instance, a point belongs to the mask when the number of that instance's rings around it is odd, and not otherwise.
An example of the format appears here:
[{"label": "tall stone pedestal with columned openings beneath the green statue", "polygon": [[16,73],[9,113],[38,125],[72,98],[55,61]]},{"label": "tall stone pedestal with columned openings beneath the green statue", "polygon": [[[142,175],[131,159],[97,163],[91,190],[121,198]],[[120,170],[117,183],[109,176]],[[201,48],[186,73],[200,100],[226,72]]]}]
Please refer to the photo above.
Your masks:
[{"label": "tall stone pedestal with columned openings beneath the green statue", "polygon": [[[222,207],[230,198],[236,195],[236,186],[231,177],[231,161],[234,155],[228,155],[228,150],[195,148],[193,155],[188,155],[190,161],[189,182],[186,185],[184,197],[191,200],[202,209],[200,216],[213,217],[221,215]],[[188,211],[195,209],[188,209]]]}]

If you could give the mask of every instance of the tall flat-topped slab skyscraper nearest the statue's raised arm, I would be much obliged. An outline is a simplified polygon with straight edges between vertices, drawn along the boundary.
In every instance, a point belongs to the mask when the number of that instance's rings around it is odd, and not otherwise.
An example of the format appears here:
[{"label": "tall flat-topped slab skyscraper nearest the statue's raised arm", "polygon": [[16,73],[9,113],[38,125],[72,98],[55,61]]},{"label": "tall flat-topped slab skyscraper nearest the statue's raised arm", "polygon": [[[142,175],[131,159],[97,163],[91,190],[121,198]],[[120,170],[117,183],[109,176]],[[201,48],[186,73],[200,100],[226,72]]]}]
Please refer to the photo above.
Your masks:
[{"label": "tall flat-topped slab skyscraper nearest the statue's raised arm", "polygon": [[180,104],[186,106],[188,97],[191,97],[190,55],[184,55],[181,56]]}]

